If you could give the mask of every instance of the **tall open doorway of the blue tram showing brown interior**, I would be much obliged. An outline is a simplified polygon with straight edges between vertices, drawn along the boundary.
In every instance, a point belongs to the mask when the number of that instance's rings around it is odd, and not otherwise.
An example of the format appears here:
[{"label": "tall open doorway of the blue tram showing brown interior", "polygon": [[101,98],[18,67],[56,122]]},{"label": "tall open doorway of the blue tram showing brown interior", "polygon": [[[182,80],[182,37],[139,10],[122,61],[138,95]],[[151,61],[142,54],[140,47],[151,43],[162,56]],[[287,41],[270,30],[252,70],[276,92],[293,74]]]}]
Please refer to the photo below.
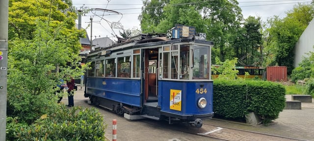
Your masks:
[{"label": "tall open doorway of the blue tram showing brown interior", "polygon": [[145,49],[144,94],[146,102],[157,102],[158,48]]}]

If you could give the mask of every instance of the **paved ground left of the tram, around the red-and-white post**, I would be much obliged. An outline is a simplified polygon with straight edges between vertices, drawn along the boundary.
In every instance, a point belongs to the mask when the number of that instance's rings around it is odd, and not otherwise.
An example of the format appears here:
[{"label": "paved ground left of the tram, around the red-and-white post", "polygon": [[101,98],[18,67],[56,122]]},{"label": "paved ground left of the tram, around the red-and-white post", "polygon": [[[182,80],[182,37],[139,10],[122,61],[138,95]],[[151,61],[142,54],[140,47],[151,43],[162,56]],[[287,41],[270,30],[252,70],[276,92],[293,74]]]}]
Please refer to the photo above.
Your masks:
[{"label": "paved ground left of the tram, around the red-and-white post", "polygon": [[[78,87],[78,89],[79,88],[80,87]],[[88,98],[84,97],[82,90],[75,92],[74,106],[92,107],[92,105],[87,104],[87,100]],[[61,102],[68,104],[68,97],[64,96]],[[215,139],[209,140],[207,137],[190,135],[180,131],[154,126],[142,120],[130,121],[105,109],[98,109],[100,113],[104,115],[104,121],[105,124],[107,124],[105,137],[109,141],[112,141],[113,119],[117,120],[117,141],[220,141]]]}]

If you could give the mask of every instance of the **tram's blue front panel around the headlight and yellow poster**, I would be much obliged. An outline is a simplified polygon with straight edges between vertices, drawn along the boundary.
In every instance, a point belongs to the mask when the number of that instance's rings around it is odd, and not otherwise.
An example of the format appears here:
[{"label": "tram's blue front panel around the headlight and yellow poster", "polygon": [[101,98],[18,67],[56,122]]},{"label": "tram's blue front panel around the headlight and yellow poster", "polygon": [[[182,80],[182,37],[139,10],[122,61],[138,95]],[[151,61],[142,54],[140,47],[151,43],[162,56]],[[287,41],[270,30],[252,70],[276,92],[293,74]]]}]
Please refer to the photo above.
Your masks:
[{"label": "tram's blue front panel around the headlight and yellow poster", "polygon": [[[203,87],[201,87],[203,86]],[[170,91],[182,91],[181,111],[170,109]],[[203,92],[197,94],[197,89]],[[205,93],[206,89],[206,93]],[[158,106],[161,111],[167,113],[175,113],[179,115],[202,115],[213,113],[212,97],[213,97],[212,81],[165,81],[158,82]],[[207,106],[204,109],[198,107],[198,100],[204,97],[207,100]]]}]

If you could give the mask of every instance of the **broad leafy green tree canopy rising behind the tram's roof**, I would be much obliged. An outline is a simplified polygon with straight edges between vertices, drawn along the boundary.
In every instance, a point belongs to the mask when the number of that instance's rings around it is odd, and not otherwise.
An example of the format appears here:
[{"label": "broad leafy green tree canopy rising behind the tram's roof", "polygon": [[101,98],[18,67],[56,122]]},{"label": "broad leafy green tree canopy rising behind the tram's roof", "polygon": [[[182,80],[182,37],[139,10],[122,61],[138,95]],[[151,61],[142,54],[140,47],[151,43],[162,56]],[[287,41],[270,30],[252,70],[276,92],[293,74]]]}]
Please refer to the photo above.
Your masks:
[{"label": "broad leafy green tree canopy rising behind the tram's roof", "polygon": [[[153,1],[155,0],[151,3]],[[150,9],[151,12],[142,12],[140,20],[143,32],[166,33],[175,24],[194,26],[196,32],[206,33],[207,39],[215,42],[213,57],[219,56],[222,61],[224,58],[233,59],[235,53],[232,41],[236,38],[236,30],[242,20],[236,0],[156,1],[160,2],[159,6],[148,4],[145,9]]]}]

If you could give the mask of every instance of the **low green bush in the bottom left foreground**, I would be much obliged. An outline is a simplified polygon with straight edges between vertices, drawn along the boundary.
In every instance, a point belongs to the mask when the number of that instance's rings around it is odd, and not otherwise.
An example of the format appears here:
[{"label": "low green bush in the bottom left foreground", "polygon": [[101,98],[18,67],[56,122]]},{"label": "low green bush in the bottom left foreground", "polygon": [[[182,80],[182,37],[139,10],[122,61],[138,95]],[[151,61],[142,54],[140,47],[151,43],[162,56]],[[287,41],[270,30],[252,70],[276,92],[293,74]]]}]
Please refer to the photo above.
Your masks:
[{"label": "low green bush in the bottom left foreground", "polygon": [[[103,116],[97,109],[62,108],[43,115],[30,126],[9,118],[7,141],[105,141]],[[16,125],[14,125],[16,124]],[[9,140],[8,140],[9,139]]]}]

